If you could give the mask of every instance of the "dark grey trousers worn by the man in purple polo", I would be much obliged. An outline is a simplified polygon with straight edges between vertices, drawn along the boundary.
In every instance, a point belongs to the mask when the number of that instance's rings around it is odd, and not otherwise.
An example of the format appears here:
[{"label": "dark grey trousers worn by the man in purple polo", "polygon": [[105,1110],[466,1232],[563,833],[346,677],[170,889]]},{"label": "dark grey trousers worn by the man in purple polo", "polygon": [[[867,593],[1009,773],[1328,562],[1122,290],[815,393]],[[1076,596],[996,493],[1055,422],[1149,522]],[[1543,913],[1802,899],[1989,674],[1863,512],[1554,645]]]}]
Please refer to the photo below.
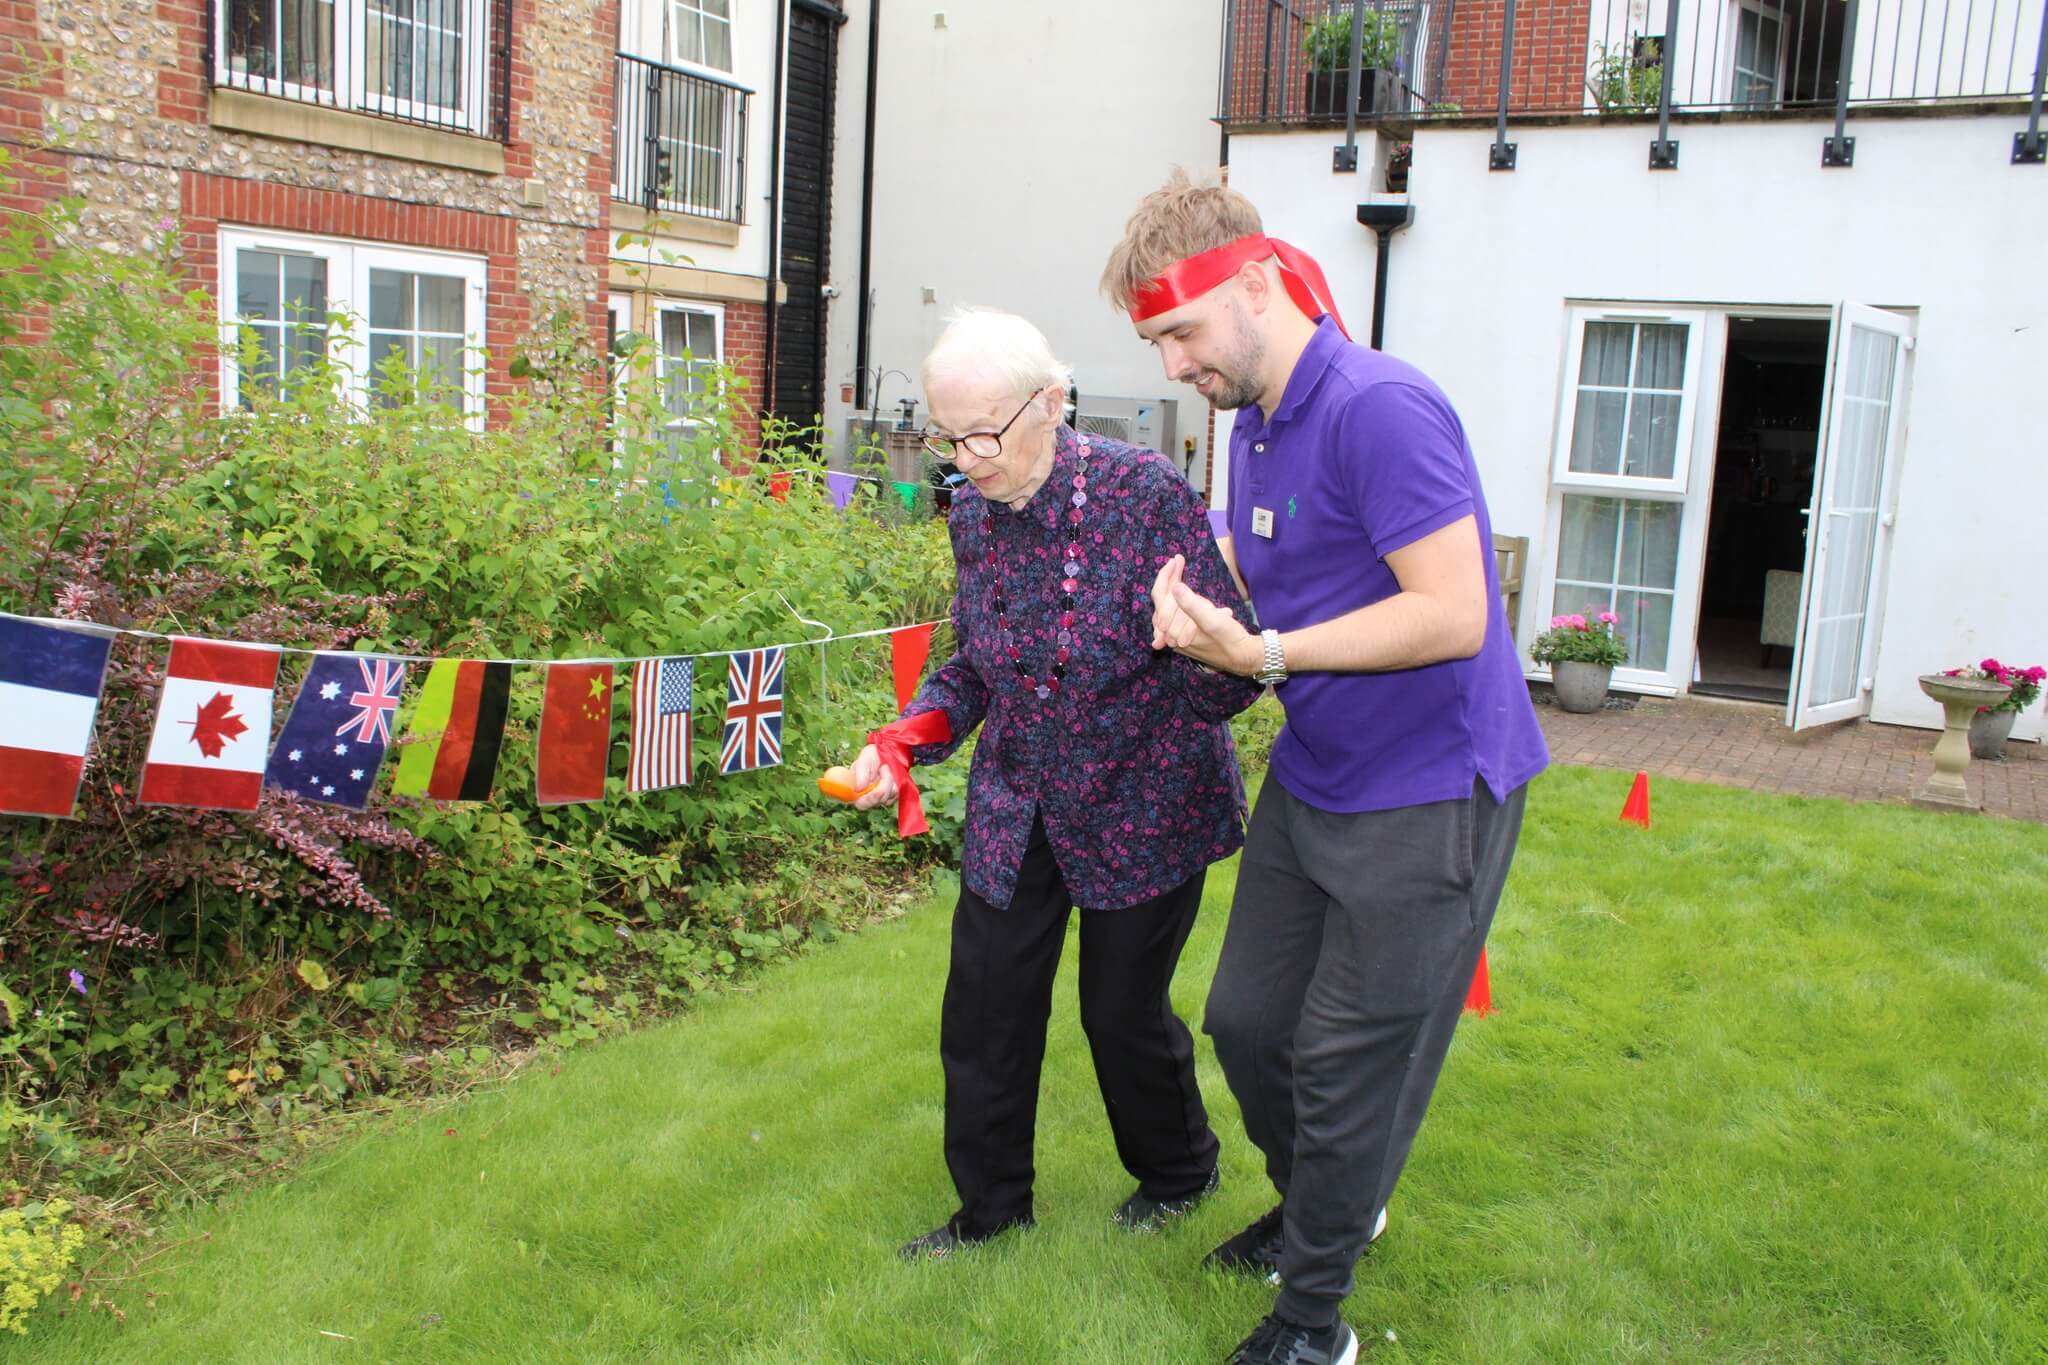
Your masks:
[{"label": "dark grey trousers worn by the man in purple polo", "polygon": [[1327,1324],[1393,1195],[1507,882],[1528,788],[1337,814],[1268,780],[1204,1031],[1282,1195],[1276,1312]]}]

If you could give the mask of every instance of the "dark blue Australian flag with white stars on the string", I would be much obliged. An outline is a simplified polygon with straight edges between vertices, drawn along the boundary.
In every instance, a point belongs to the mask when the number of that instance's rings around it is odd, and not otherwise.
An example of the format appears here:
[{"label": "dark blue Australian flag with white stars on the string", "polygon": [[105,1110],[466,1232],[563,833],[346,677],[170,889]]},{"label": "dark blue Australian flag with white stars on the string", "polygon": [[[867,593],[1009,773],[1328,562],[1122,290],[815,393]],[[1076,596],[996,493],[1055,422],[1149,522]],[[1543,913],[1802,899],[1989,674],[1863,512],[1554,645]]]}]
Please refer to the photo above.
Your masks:
[{"label": "dark blue Australian flag with white stars on the string", "polygon": [[377,655],[313,655],[270,749],[270,786],[360,810],[391,745],[406,665]]}]

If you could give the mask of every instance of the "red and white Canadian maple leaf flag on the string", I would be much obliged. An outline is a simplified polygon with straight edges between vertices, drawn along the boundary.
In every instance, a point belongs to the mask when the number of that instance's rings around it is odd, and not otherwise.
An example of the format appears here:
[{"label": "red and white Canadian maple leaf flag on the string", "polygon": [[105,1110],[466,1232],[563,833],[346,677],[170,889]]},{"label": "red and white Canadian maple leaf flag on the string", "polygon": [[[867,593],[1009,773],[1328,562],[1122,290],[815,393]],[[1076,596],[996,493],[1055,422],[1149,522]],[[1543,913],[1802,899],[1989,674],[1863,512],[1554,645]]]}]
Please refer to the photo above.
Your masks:
[{"label": "red and white Canadian maple leaf flag on the string", "polygon": [[137,800],[254,810],[270,757],[274,645],[174,636]]}]

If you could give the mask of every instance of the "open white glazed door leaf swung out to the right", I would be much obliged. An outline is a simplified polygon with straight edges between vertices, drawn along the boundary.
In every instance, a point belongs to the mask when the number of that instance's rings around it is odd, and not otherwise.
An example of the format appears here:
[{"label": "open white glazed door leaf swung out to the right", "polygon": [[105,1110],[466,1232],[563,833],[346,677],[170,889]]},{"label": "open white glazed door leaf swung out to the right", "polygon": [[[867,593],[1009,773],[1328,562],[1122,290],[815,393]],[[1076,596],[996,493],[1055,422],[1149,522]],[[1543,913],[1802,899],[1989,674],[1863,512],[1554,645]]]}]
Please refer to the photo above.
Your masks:
[{"label": "open white glazed door leaf swung out to the right", "polygon": [[1786,724],[1794,731],[1870,710],[1874,602],[1890,546],[1888,483],[1903,434],[1911,348],[1907,317],[1860,303],[1835,307],[1786,700]]}]

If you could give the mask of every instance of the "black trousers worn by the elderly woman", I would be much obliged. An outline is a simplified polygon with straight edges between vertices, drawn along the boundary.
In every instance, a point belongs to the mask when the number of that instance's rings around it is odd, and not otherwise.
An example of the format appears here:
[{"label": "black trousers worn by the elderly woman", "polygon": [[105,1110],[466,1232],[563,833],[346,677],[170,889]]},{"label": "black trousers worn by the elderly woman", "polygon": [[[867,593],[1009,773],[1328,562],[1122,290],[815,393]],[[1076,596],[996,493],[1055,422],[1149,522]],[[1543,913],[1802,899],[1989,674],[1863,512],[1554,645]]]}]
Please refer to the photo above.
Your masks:
[{"label": "black trousers worn by the elderly woman", "polygon": [[[1202,878],[1196,872],[1126,909],[1081,913],[1081,1029],[1116,1156],[1151,1199],[1192,1195],[1217,1166],[1217,1134],[1194,1081],[1194,1038],[1167,999]],[[1032,821],[1010,907],[995,909],[963,888],[952,913],[938,1056],[946,1070],[946,1169],[961,1193],[954,1228],[967,1236],[1032,1216],[1038,1068],[1071,911],[1044,823]]]}]

